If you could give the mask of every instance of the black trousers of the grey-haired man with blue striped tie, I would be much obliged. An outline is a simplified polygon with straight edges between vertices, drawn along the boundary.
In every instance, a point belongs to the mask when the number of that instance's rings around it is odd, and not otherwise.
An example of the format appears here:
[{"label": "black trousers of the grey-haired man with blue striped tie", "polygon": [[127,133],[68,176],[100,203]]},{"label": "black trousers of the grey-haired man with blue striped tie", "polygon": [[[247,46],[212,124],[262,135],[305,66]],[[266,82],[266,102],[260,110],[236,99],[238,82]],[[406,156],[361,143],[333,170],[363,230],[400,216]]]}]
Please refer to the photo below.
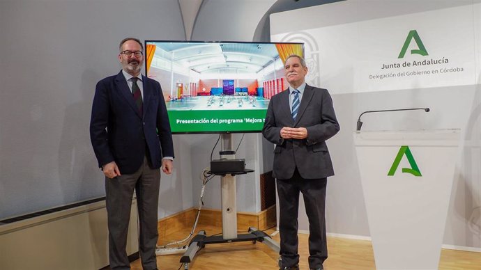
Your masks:
[{"label": "black trousers of the grey-haired man with blue striped tie", "polygon": [[321,268],[328,258],[326,241],[326,186],[327,178],[303,179],[298,170],[289,180],[277,179],[280,208],[280,256],[282,267],[299,263],[298,209],[299,193],[303,193],[305,211],[309,219],[309,267]]}]

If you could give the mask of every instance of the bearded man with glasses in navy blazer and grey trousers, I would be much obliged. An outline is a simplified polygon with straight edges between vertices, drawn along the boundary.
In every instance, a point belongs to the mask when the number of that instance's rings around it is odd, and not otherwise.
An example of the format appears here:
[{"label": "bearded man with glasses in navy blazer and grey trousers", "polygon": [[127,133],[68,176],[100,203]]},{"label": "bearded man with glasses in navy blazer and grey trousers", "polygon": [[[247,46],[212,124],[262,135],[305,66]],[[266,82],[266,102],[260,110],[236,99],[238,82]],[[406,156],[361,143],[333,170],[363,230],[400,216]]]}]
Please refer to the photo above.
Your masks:
[{"label": "bearded man with glasses in navy blazer and grey trousers", "polygon": [[98,82],[90,136],[105,175],[110,268],[130,269],[125,251],[133,192],[144,270],[157,269],[160,167],[172,173],[174,146],[160,84],[143,76],[144,47],[137,38],[119,46],[119,74]]}]

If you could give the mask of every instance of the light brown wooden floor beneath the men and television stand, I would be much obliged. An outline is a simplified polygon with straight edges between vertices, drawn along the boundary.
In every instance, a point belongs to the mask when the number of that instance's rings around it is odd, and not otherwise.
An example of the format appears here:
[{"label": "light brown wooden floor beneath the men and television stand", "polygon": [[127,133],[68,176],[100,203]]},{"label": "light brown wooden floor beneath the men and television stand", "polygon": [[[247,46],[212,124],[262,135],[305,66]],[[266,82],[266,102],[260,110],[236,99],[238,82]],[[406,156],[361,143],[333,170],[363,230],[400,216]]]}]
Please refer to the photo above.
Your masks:
[{"label": "light brown wooden floor beneath the men and television stand", "polygon": [[[222,228],[213,226],[198,226],[199,230],[205,230],[207,235],[222,232]],[[159,239],[159,244],[183,239],[190,230],[176,232],[167,235],[165,239]],[[268,234],[274,230],[266,231]],[[242,232],[239,232],[242,233]],[[300,269],[307,270],[308,235],[299,235]],[[279,241],[279,235],[273,237]],[[329,258],[324,262],[326,270],[374,270],[374,254],[370,241],[343,239],[328,237]],[[227,244],[211,244],[197,253],[189,269],[192,270],[225,270],[225,269],[249,269],[249,270],[277,270],[277,258],[279,255],[262,243],[238,242]],[[176,270],[181,267],[179,262],[181,255],[162,255],[157,257],[160,270]],[[142,270],[140,260],[132,262],[132,270]],[[181,267],[181,269],[184,269]],[[441,251],[440,270],[481,270],[481,254],[466,251]]]}]

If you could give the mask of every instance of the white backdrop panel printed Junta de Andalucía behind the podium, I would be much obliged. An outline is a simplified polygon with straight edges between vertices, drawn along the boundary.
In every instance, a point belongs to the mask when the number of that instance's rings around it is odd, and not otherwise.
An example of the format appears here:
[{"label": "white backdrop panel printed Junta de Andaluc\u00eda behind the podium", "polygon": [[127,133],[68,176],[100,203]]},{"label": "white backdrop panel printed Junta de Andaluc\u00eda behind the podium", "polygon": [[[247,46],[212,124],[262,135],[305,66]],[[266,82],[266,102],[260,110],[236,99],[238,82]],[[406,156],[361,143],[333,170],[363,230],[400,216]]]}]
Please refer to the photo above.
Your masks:
[{"label": "white backdrop panel printed Junta de Andaluc\u00eda behind the podium", "polygon": [[[336,173],[328,182],[328,232],[369,235],[352,136],[359,114],[429,106],[429,113],[365,115],[362,129],[460,128],[464,140],[460,142],[444,244],[481,248],[479,2],[351,0],[271,15],[273,41],[306,42],[306,58],[314,73],[308,83],[330,90],[341,125],[341,132],[328,141]],[[293,17],[301,19],[287,19]],[[397,58],[412,29],[420,32],[429,51],[427,58],[450,59],[450,63],[422,68],[463,67],[464,71],[369,79],[369,74],[415,70],[381,69],[383,63],[424,59],[417,54]],[[417,47],[411,44],[411,49]],[[307,230],[307,219],[301,216],[300,229]]]}]

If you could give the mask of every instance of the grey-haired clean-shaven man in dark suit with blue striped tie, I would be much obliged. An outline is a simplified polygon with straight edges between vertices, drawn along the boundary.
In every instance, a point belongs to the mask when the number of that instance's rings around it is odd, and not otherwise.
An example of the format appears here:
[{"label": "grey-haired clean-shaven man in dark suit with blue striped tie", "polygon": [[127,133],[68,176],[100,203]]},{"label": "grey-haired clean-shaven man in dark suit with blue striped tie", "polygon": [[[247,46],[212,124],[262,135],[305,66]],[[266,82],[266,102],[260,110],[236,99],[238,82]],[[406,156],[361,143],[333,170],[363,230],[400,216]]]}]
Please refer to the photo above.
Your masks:
[{"label": "grey-haired clean-shaven man in dark suit with blue striped tie", "polygon": [[339,132],[328,90],[305,83],[307,65],[291,55],[284,64],[289,88],[269,102],[262,134],[275,143],[273,177],[279,196],[280,269],[298,270],[298,208],[303,193],[309,219],[309,268],[323,269],[327,177],[334,175],[326,141]]}]

